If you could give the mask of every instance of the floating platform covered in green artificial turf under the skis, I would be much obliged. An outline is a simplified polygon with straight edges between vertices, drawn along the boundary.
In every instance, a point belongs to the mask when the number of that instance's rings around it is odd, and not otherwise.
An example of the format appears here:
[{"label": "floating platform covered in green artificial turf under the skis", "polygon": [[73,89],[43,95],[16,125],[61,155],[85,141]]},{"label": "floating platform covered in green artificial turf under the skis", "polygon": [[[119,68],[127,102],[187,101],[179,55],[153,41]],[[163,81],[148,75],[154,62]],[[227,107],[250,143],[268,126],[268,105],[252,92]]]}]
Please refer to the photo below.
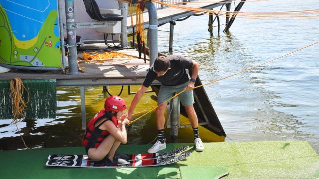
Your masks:
[{"label": "floating platform covered in green artificial turf under the skis", "polygon": [[[193,144],[167,144],[165,150],[184,145]],[[92,175],[101,179],[218,179],[229,173],[225,179],[319,178],[319,156],[308,142],[222,142],[204,145],[204,152],[198,153],[192,148],[190,157],[175,164],[129,169],[45,166],[48,155],[84,154],[84,147],[0,151],[0,176],[3,179],[84,179]],[[119,152],[141,153],[149,147],[151,145],[122,145]],[[199,169],[201,174],[196,173]]]}]

